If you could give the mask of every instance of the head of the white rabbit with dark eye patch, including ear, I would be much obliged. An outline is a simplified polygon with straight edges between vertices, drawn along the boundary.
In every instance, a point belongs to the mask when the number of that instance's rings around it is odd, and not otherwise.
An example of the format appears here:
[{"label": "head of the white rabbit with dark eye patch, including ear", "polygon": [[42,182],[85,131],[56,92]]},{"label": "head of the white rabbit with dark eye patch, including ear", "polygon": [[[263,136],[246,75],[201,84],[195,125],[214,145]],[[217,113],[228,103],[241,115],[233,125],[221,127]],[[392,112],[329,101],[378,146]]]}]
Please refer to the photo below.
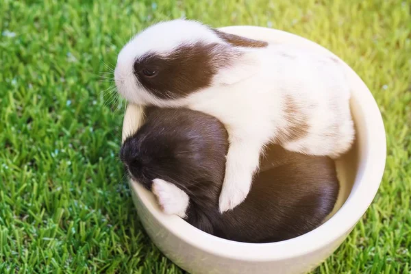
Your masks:
[{"label": "head of the white rabbit with dark eye patch, including ear", "polygon": [[157,23],[130,40],[119,53],[114,79],[132,103],[181,105],[188,95],[233,84],[250,75],[248,56],[264,41],[227,34],[197,21]]}]

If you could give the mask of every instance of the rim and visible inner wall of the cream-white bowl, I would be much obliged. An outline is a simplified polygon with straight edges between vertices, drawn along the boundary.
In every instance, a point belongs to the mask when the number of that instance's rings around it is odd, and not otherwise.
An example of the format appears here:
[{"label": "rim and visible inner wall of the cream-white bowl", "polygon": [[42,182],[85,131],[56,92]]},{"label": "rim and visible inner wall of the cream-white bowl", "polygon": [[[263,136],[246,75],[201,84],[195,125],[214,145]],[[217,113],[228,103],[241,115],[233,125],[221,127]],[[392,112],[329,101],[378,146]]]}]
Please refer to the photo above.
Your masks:
[{"label": "rim and visible inner wall of the cream-white bowl", "polygon": [[[310,40],[275,29],[234,26],[224,27],[222,30],[269,42],[290,42],[338,58]],[[353,92],[351,112],[356,124],[356,142],[349,153],[336,160],[340,192],[334,210],[323,225],[302,236],[269,244],[224,240],[201,232],[177,216],[162,214],[153,195],[137,182],[131,182],[136,197],[149,212],[140,218],[155,220],[188,245],[210,253],[219,253],[225,258],[243,258],[249,261],[292,258],[297,253],[310,253],[315,249],[332,244],[337,238],[345,237],[375,197],[384,172],[386,158],[384,124],[375,100],[360,77],[349,66],[345,66]],[[123,124],[123,140],[135,132],[141,123],[142,108],[138,105],[129,105]]]}]

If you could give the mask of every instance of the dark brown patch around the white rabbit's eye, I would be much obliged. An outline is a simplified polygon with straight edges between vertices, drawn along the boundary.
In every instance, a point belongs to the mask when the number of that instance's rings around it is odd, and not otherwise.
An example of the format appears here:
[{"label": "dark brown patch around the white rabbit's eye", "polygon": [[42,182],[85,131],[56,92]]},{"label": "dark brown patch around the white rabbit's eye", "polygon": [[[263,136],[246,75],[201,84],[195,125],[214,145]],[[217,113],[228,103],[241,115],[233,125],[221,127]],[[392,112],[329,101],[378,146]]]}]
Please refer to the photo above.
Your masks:
[{"label": "dark brown patch around the white rabbit's eye", "polygon": [[[210,86],[218,69],[229,66],[237,56],[227,46],[216,43],[181,45],[166,56],[142,56],[134,62],[134,75],[155,97],[178,99]],[[144,70],[155,71],[156,75],[147,77]]]}]

